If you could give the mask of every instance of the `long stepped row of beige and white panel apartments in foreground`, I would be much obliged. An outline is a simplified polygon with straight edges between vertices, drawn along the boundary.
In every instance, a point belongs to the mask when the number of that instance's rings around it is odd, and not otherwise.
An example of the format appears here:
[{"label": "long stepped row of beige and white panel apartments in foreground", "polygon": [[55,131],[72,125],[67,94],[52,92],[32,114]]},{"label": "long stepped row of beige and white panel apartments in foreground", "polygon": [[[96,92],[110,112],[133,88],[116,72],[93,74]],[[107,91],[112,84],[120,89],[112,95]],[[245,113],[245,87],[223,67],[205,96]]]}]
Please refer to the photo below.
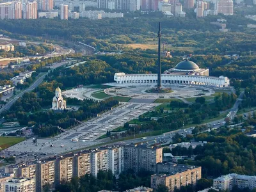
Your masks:
[{"label": "long stepped row of beige and white panel apartments in foreground", "polygon": [[56,184],[60,184],[61,181],[68,182],[72,177],[90,173],[97,176],[99,170],[111,170],[118,177],[124,170],[124,147],[103,147],[79,154],[69,153],[51,157],[35,164],[20,166],[17,177],[35,179],[36,192],[41,192],[45,184],[55,188]]}]

